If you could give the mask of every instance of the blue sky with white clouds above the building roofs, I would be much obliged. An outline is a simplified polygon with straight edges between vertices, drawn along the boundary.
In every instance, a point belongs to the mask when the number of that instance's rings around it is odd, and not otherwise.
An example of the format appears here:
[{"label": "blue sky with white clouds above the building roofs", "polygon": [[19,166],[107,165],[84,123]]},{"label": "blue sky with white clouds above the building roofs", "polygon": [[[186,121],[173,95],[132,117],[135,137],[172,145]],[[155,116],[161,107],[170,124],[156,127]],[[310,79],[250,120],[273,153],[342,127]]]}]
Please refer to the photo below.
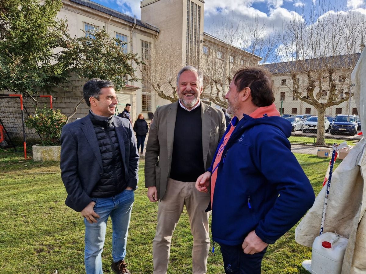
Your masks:
[{"label": "blue sky with white clouds above the building roofs", "polygon": [[[136,15],[138,19],[141,18],[139,0],[94,1],[130,16]],[[251,51],[250,44],[253,39],[247,29],[249,24],[254,24],[253,22],[257,22],[256,28],[262,31],[262,41],[268,37],[274,37],[274,33],[284,32],[284,26],[290,20],[293,22],[293,19],[305,22],[307,28],[310,28],[316,26],[320,17],[332,16],[333,21],[337,16],[348,16],[347,18],[351,19],[348,21],[351,25],[353,18],[362,17],[366,26],[365,2],[366,0],[205,0],[204,31],[232,45]],[[324,33],[327,31],[325,30]],[[229,37],[230,41],[225,36]],[[341,38],[341,40],[347,39]],[[268,44],[270,41],[265,43]],[[285,52],[291,52],[291,43],[288,45],[286,43],[277,45],[276,52],[279,53],[286,47]],[[357,40],[355,43],[365,43],[365,41]],[[254,53],[262,56],[261,52]],[[339,50],[337,54],[345,53]],[[283,57],[281,61],[291,60],[291,58],[290,54],[290,57]]]}]

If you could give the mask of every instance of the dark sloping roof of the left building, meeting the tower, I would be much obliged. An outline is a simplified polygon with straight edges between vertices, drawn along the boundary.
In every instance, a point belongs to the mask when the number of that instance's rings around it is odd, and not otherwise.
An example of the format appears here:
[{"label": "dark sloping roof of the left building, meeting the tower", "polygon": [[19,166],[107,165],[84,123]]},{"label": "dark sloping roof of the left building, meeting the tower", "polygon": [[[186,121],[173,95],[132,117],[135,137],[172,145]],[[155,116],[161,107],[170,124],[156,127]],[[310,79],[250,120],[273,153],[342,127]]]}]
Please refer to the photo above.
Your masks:
[{"label": "dark sloping roof of the left building, meeting the tower", "polygon": [[[132,24],[135,23],[134,17],[129,16],[127,14],[123,14],[122,12],[116,11],[114,9],[104,7],[103,5],[100,5],[100,4],[90,1],[90,0],[69,0],[69,1],[92,8],[92,9],[96,9],[97,11],[103,12],[108,15],[112,15],[113,17],[122,19],[122,20],[130,22]],[[159,32],[159,28],[154,27],[148,23],[142,23],[141,20],[139,20],[139,19],[136,19],[136,25],[140,26],[140,27],[148,28],[149,30]]]}]

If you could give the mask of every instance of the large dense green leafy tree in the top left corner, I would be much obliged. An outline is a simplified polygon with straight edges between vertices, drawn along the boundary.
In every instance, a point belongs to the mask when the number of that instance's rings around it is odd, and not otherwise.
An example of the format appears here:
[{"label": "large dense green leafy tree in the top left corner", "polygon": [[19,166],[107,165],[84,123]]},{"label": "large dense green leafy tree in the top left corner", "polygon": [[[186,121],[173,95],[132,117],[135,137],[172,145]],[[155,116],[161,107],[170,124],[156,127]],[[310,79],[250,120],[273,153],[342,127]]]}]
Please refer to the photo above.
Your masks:
[{"label": "large dense green leafy tree in the top left corner", "polygon": [[32,96],[67,80],[70,65],[60,49],[70,37],[57,19],[61,7],[60,0],[1,1],[0,90]]}]

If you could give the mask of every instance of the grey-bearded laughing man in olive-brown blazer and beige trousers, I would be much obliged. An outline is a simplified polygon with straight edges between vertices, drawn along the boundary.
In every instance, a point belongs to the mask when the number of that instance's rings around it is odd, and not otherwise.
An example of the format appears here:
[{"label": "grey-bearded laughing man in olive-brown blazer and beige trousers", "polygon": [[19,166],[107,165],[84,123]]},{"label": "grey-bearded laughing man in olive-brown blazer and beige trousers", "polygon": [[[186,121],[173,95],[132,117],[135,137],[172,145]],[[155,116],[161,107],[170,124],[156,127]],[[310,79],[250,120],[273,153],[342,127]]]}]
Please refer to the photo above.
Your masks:
[{"label": "grey-bearded laughing man in olive-brown blazer and beige trousers", "polygon": [[[193,235],[193,273],[207,271],[210,247],[208,193],[195,189],[195,181],[210,167],[225,132],[224,113],[199,100],[202,72],[193,66],[177,76],[178,102],[159,107],[150,126],[145,156],[145,186],[151,202],[159,200],[153,240],[154,274],[167,273],[173,231],[183,206]],[[202,173],[200,173],[202,171]]]}]

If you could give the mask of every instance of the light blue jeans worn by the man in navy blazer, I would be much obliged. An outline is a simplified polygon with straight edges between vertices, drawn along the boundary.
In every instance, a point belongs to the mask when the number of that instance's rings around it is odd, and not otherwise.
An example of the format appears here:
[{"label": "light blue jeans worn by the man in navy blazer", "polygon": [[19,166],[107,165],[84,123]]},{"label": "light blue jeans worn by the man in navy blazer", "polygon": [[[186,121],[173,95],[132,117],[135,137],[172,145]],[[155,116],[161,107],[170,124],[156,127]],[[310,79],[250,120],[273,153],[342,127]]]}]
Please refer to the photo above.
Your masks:
[{"label": "light blue jeans worn by the man in navy blazer", "polygon": [[85,270],[87,274],[101,274],[102,251],[104,246],[105,229],[108,217],[112,220],[112,258],[113,262],[123,260],[126,256],[126,243],[128,226],[132,204],[134,203],[134,191],[124,190],[121,193],[109,198],[93,198],[96,202],[94,212],[100,218],[97,222],[90,224],[86,218],[85,223]]}]

